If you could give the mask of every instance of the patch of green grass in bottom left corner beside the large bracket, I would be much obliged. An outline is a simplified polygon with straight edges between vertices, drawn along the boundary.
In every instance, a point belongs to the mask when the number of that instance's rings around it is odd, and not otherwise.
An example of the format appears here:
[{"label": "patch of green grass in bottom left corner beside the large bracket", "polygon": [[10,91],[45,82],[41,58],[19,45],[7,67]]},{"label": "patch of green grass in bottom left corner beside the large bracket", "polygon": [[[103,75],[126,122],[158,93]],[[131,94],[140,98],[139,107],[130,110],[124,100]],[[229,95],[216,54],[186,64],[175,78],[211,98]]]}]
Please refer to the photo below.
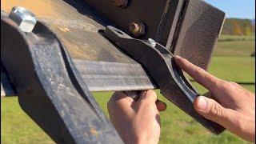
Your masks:
[{"label": "patch of green grass in bottom left corner beside the large bracket", "polygon": [[18,98],[1,98],[1,143],[53,143],[18,105]]}]

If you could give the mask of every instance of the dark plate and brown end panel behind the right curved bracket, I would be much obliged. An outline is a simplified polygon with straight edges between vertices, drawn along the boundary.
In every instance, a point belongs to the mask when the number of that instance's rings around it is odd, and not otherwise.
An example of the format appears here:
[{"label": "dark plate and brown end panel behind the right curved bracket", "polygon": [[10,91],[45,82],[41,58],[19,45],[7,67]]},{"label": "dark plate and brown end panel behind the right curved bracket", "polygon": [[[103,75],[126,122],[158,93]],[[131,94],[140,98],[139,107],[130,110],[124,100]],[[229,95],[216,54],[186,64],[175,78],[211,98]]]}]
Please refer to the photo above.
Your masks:
[{"label": "dark plate and brown end panel behind the right curved bracket", "polygon": [[205,70],[225,18],[221,10],[202,0],[130,1],[124,9],[114,6],[112,0],[76,1],[86,2],[125,32],[129,32],[130,22],[142,21],[146,32],[140,38],[154,38]]}]

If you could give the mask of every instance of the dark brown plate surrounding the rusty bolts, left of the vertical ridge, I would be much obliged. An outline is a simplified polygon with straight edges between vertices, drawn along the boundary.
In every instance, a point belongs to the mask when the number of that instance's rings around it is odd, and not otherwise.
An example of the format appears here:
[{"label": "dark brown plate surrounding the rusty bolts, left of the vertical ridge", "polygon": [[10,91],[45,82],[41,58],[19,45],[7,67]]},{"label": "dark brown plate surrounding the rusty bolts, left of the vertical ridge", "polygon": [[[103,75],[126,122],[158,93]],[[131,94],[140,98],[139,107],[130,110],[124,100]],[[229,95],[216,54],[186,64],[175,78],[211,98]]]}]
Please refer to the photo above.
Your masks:
[{"label": "dark brown plate surrounding the rusty bolts, left of the vertical ridge", "polygon": [[[126,8],[114,6],[112,0],[75,0],[82,6],[90,6],[98,14],[113,22],[119,29],[129,33],[130,22],[141,21],[146,32],[140,38],[158,38],[159,43],[166,45],[174,14],[180,0],[139,0],[129,1]],[[165,31],[163,31],[165,30]],[[165,34],[163,34],[165,33]]]}]

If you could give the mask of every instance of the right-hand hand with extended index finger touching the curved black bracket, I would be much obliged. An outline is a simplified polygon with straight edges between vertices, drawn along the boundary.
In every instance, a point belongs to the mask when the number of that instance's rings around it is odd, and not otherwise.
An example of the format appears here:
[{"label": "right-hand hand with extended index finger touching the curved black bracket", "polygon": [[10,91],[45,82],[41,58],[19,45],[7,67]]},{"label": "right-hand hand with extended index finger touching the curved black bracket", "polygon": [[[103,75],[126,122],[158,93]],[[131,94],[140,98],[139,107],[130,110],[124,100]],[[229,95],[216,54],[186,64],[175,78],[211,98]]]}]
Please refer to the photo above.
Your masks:
[{"label": "right-hand hand with extended index finger touching the curved black bracket", "polygon": [[255,142],[255,94],[234,82],[216,78],[185,58],[175,63],[209,90],[194,101],[194,109],[203,117],[226,127],[230,132]]}]

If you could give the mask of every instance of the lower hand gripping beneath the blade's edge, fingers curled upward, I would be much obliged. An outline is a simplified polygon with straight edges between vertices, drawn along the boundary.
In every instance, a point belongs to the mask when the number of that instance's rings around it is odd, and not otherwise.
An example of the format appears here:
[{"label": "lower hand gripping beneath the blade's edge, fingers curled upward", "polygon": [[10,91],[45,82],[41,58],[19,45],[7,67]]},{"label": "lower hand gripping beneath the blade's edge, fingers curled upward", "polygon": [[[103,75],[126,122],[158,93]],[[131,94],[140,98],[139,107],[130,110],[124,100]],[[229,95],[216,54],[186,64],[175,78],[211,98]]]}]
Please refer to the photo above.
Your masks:
[{"label": "lower hand gripping beneath the blade's edge, fingers curled upward", "polygon": [[157,100],[154,90],[143,91],[138,101],[122,92],[115,92],[107,108],[111,122],[125,143],[158,143],[158,110],[166,110],[166,104]]}]

